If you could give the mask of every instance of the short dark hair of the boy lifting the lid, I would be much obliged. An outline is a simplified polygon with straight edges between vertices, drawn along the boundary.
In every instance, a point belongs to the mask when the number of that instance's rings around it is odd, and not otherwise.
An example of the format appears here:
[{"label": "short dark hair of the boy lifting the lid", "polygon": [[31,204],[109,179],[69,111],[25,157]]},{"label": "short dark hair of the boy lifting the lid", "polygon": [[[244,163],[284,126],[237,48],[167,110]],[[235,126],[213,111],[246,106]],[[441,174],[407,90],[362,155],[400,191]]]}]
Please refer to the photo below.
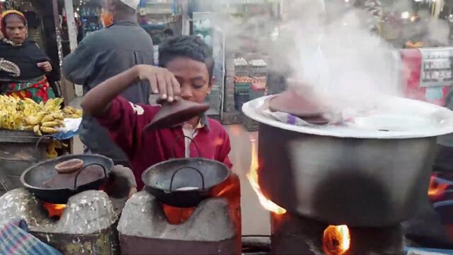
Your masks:
[{"label": "short dark hair of the boy lifting the lid", "polygon": [[166,40],[159,47],[159,66],[166,65],[176,57],[188,57],[192,60],[206,64],[207,72],[212,79],[214,72],[214,60],[212,49],[201,38],[195,35],[183,35]]}]

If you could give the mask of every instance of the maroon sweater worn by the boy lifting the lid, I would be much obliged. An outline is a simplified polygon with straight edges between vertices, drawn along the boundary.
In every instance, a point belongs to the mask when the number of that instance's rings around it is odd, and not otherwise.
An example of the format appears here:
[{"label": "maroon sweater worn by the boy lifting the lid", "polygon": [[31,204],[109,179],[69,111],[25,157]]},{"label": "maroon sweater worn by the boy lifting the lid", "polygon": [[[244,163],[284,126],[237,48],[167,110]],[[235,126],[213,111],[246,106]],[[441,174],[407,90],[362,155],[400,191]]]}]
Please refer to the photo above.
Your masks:
[{"label": "maroon sweater worn by the boy lifting the lid", "polygon": [[[110,109],[98,122],[106,128],[113,141],[122,148],[130,160],[132,171],[137,181],[137,190],[142,190],[142,173],[154,164],[171,159],[185,157],[183,128],[143,131],[159,111],[159,106],[132,105],[125,98],[117,97]],[[194,140],[200,149],[201,157],[226,164],[231,169],[228,154],[231,150],[229,136],[216,120],[207,118],[205,126],[198,130]],[[173,145],[174,152],[172,152]],[[190,144],[190,155],[197,157],[197,149]]]}]

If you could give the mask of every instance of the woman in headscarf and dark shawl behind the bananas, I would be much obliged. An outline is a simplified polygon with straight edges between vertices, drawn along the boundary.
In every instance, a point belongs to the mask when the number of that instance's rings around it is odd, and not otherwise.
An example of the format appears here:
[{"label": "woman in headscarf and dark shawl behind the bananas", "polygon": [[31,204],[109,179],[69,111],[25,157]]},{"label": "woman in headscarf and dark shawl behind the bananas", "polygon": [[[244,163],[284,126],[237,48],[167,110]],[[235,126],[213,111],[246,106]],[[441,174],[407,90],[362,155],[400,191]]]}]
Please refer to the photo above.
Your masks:
[{"label": "woman in headscarf and dark shawl behind the bananas", "polygon": [[6,11],[0,20],[0,93],[31,98],[40,103],[55,98],[46,73],[52,72],[49,57],[28,39],[27,19],[19,11]]}]

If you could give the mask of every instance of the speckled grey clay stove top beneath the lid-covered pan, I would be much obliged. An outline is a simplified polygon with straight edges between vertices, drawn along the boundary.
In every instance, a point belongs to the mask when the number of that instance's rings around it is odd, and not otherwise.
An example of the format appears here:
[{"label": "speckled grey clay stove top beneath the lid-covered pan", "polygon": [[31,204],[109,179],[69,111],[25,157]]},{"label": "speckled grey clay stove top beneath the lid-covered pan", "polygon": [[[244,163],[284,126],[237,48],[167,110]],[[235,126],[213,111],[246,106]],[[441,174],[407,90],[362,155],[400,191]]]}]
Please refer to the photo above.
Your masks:
[{"label": "speckled grey clay stove top beneath the lid-covered pan", "polygon": [[69,198],[60,220],[47,217],[42,202],[24,188],[0,197],[0,225],[25,220],[32,232],[95,234],[117,220],[110,199],[103,191],[85,191]]}]

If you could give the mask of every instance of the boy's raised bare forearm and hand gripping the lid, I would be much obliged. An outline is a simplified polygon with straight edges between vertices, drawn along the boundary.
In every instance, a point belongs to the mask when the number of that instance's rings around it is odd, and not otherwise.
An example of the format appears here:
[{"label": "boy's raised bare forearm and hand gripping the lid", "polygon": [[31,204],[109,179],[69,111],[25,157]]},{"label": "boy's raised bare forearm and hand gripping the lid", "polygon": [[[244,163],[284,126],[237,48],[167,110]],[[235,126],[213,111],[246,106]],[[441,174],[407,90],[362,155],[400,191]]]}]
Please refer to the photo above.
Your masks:
[{"label": "boy's raised bare forearm and hand gripping the lid", "polygon": [[110,102],[122,91],[137,81],[147,80],[154,93],[159,93],[161,99],[173,102],[180,96],[180,85],[174,75],[167,69],[148,65],[137,65],[115,77],[103,81],[88,91],[81,103],[84,111],[94,117],[101,117],[108,111]]}]

